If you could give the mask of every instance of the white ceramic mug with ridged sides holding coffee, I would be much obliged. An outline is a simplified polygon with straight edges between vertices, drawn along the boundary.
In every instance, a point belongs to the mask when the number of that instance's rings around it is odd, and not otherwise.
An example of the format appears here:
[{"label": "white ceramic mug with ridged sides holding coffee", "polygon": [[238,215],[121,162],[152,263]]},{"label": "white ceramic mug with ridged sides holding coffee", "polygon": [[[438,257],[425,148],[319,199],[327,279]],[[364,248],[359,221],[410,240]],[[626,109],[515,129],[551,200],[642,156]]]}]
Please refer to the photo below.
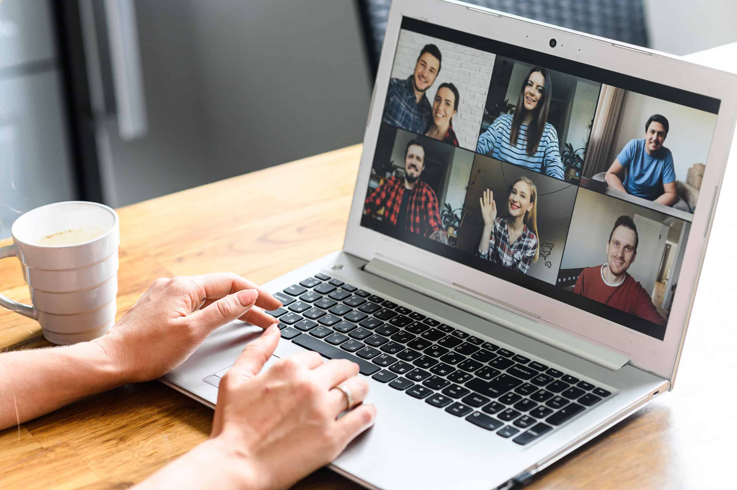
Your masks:
[{"label": "white ceramic mug with ridged sides holding coffee", "polygon": [[51,343],[105,335],[115,323],[118,214],[98,203],[54,203],[18,217],[10,233],[0,259],[21,261],[32,305],[0,295],[0,306],[38,320]]}]

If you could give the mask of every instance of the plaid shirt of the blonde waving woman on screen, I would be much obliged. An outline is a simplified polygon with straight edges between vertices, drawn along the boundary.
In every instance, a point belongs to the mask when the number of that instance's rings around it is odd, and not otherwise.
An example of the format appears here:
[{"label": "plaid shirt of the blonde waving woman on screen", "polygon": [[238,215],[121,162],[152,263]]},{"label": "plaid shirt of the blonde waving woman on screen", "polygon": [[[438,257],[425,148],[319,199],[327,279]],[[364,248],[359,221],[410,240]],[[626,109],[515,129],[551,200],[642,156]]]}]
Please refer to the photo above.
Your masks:
[{"label": "plaid shirt of the blonde waving woman on screen", "polygon": [[481,253],[481,249],[479,249],[478,255],[495,264],[501,262],[504,267],[526,274],[530,270],[536,251],[537,237],[530,228],[527,228],[527,225],[523,228],[520,238],[510,245],[507,219],[497,217],[494,222],[492,236],[489,237],[489,250],[486,253]]}]

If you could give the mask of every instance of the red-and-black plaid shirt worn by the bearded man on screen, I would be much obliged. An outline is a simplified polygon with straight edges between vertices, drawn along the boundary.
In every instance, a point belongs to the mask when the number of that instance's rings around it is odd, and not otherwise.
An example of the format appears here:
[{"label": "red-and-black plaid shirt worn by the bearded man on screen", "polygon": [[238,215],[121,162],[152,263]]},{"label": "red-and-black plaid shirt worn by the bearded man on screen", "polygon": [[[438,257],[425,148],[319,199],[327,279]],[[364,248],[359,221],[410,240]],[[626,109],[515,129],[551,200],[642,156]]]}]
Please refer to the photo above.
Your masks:
[{"label": "red-and-black plaid shirt worn by the bearded man on screen", "polygon": [[409,192],[407,202],[407,219],[405,229],[412,233],[428,237],[433,231],[440,229],[440,213],[438,198],[432,187],[423,181],[416,181],[414,188],[405,189],[405,178],[391,177],[388,181],[374,189],[366,197],[364,211],[372,214],[384,208],[384,219],[392,225],[397,225],[399,208],[402,206],[402,196]]}]

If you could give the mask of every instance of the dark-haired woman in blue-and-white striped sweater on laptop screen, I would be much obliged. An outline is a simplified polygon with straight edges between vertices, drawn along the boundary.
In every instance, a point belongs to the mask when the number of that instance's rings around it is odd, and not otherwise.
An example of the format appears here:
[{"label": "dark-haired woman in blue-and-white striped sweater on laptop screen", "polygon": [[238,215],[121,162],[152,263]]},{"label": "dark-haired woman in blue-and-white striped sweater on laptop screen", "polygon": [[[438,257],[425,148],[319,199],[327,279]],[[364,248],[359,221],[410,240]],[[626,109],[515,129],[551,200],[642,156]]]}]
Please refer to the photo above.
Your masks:
[{"label": "dark-haired woman in blue-and-white striped sweater on laptop screen", "polygon": [[502,114],[478,138],[476,153],[563,179],[558,133],[548,122],[553,80],[535,66],[525,77],[514,115]]}]

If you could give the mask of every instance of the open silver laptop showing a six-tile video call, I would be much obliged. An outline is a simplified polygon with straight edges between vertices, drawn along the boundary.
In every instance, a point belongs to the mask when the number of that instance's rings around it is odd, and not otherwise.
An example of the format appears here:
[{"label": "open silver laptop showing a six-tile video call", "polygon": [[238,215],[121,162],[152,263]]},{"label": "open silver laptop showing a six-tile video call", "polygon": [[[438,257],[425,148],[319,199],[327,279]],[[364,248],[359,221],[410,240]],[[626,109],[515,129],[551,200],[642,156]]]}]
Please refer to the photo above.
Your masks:
[{"label": "open silver laptop showing a six-tile video call", "polygon": [[[737,77],[458,1],[394,0],[343,250],[265,284],[272,361],[368,380],[330,465],[373,489],[507,489],[673,389]],[[161,381],[214,407],[260,329]],[[265,368],[268,368],[269,363]]]}]

